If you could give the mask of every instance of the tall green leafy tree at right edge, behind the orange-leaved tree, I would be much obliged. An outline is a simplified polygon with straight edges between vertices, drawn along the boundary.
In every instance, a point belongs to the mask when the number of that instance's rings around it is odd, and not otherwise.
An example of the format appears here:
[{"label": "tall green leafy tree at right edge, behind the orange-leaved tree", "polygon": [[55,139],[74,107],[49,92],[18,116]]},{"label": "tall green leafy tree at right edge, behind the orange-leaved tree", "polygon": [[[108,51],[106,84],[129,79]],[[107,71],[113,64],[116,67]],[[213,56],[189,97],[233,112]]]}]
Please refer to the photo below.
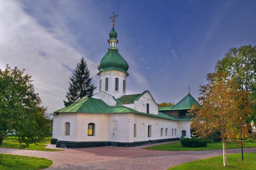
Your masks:
[{"label": "tall green leafy tree at right edge, behind the orange-leaved tree", "polygon": [[[256,100],[256,46],[230,48],[225,57],[217,61],[215,70],[225,72],[227,79],[239,84],[238,89],[251,92],[251,99]],[[256,122],[256,106],[250,117]]]}]

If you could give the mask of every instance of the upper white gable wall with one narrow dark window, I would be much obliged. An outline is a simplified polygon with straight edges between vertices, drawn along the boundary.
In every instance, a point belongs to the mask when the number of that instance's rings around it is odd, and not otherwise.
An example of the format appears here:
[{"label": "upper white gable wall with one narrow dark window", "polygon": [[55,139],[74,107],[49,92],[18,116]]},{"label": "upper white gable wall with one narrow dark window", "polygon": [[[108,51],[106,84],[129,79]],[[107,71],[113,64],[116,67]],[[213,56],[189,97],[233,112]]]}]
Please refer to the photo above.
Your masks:
[{"label": "upper white gable wall with one narrow dark window", "polygon": [[146,113],[147,103],[149,103],[149,113],[153,115],[158,115],[158,105],[149,93],[149,91],[147,91],[142,97],[140,97],[138,101],[134,101],[134,103],[132,104],[123,104],[123,106],[131,108],[138,112]]}]

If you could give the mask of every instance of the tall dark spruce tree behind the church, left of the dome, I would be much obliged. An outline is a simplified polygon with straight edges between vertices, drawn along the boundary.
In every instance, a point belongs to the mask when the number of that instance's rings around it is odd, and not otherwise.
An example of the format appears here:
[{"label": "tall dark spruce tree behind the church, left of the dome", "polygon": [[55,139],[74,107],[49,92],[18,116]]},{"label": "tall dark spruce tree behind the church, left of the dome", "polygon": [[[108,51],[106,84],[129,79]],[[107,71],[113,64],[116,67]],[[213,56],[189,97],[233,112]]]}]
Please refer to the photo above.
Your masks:
[{"label": "tall dark spruce tree behind the church, left of the dome", "polygon": [[66,107],[84,96],[91,97],[93,95],[96,86],[91,83],[92,78],[90,78],[90,71],[83,57],[80,63],[76,64],[73,75],[69,78],[70,86],[66,95],[67,101],[63,100]]}]

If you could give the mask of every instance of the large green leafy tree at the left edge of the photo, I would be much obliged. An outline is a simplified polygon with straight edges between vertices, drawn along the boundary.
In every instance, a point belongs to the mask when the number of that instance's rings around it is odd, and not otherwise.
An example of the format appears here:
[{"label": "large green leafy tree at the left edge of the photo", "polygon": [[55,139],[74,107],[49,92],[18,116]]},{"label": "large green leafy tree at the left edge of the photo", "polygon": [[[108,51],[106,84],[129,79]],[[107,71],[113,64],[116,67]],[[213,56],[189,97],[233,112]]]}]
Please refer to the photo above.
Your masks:
[{"label": "large green leafy tree at the left edge of the photo", "polygon": [[42,141],[48,133],[46,108],[24,69],[0,69],[0,146],[7,133],[15,133],[20,148]]}]

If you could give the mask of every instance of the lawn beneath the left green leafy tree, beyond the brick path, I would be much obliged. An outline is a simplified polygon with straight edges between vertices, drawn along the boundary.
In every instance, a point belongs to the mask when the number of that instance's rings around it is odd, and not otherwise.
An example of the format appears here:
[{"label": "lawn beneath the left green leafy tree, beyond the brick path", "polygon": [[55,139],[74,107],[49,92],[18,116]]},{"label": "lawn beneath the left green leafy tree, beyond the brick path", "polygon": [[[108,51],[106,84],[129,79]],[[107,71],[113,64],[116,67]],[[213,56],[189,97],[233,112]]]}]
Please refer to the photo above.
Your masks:
[{"label": "lawn beneath the left green leafy tree, beyond the brick path", "polygon": [[[30,144],[29,148],[26,148],[25,150],[33,150],[33,151],[63,151],[58,149],[46,149],[46,145],[42,144],[48,144],[51,143],[52,137],[43,139],[42,142],[40,142],[37,146],[35,144]],[[9,149],[20,149],[20,144],[17,141],[17,138],[15,138],[15,135],[8,135],[7,139],[3,140],[2,145],[0,148],[9,148]]]}]

